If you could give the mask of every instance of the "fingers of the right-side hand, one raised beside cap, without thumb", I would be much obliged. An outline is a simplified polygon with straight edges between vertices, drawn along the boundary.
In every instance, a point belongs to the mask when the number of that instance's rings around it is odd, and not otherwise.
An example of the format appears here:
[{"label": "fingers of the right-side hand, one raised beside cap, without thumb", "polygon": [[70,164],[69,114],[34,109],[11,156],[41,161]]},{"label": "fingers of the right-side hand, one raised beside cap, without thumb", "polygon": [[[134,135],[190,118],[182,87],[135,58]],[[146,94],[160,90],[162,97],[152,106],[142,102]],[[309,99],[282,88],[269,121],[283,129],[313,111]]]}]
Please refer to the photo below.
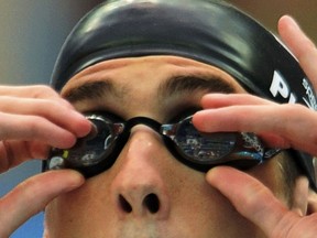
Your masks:
[{"label": "fingers of the right-side hand, one raised beside cap, without thumb", "polygon": [[[278,31],[317,88],[317,48],[314,43],[291,17],[281,18]],[[271,147],[294,148],[317,155],[317,131],[311,130],[317,126],[317,115],[304,106],[277,105],[250,95],[216,94],[205,96],[201,104],[206,110],[194,117],[194,125],[201,131],[252,131]]]}]

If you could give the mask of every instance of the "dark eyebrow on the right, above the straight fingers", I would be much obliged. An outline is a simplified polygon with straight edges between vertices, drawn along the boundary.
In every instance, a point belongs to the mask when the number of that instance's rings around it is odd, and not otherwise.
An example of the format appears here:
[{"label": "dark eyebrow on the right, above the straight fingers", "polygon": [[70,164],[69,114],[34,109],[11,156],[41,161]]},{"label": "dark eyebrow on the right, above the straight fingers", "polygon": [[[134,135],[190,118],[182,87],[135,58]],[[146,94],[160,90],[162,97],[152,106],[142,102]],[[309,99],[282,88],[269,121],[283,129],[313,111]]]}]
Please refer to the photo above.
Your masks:
[{"label": "dark eyebrow on the right, above the straight fingers", "polygon": [[178,75],[162,83],[158,88],[158,95],[165,98],[173,94],[193,93],[195,90],[225,94],[237,91],[231,84],[218,76]]}]

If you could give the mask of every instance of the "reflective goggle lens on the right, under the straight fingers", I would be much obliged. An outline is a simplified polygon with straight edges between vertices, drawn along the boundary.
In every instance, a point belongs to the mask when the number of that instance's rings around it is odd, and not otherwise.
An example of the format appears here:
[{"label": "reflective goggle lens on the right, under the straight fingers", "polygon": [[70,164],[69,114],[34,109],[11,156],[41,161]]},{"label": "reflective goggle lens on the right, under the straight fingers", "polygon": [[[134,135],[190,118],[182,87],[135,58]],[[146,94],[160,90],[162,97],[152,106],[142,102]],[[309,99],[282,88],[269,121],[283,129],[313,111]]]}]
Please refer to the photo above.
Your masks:
[{"label": "reflective goggle lens on the right, under the straight fingers", "polygon": [[254,133],[203,133],[194,127],[192,117],[175,125],[162,125],[161,133],[170,138],[181,156],[194,165],[210,169],[211,165],[239,163],[244,167],[243,162],[247,167],[265,159],[264,148]]}]

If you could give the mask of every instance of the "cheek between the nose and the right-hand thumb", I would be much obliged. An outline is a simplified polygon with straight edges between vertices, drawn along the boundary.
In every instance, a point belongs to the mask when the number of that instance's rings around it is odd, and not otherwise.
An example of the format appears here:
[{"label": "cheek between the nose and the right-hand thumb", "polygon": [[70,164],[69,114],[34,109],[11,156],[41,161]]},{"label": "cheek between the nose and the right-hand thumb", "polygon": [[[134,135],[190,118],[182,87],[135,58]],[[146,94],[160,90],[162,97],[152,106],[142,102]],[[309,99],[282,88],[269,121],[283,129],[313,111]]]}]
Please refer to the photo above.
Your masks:
[{"label": "cheek between the nose and the right-hand thumb", "polygon": [[204,173],[192,169],[177,173],[170,188],[173,207],[170,223],[186,226],[192,237],[262,237],[262,231],[205,181]]}]

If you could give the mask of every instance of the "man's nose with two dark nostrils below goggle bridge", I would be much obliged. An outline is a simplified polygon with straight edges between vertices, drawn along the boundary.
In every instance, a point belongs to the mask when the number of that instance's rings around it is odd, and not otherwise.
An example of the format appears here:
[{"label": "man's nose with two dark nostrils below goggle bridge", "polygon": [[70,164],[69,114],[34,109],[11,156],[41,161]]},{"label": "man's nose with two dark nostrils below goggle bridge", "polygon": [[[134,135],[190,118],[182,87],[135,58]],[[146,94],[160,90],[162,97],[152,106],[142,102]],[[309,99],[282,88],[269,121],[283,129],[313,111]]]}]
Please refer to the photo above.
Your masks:
[{"label": "man's nose with two dark nostrils below goggle bridge", "polygon": [[118,173],[111,184],[111,194],[121,218],[164,219],[168,216],[170,201],[160,161],[162,148],[160,136],[150,128],[138,126],[132,130],[117,160],[120,161]]}]

